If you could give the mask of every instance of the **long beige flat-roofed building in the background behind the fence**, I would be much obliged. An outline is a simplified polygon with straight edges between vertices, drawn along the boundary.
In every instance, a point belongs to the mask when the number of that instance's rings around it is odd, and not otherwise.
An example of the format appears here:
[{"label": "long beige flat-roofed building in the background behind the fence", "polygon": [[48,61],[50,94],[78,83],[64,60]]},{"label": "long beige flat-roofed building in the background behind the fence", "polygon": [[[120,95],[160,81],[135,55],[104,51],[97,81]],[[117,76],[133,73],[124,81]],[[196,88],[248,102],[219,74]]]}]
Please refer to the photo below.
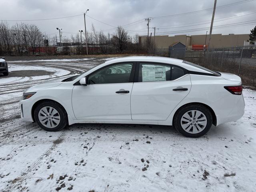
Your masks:
[{"label": "long beige flat-roofed building in the background behind the fence", "polygon": [[[168,48],[170,44],[174,42],[181,42],[185,44],[188,48],[192,45],[204,45],[206,35],[175,35],[175,36],[155,36],[156,48]],[[140,36],[139,42],[146,43],[147,36]],[[208,44],[209,35],[206,37],[206,44]],[[219,47],[234,47],[234,46],[243,46],[244,41],[249,40],[249,34],[212,34],[210,41],[210,48],[219,48]],[[151,37],[151,42],[153,43],[154,36]]]}]

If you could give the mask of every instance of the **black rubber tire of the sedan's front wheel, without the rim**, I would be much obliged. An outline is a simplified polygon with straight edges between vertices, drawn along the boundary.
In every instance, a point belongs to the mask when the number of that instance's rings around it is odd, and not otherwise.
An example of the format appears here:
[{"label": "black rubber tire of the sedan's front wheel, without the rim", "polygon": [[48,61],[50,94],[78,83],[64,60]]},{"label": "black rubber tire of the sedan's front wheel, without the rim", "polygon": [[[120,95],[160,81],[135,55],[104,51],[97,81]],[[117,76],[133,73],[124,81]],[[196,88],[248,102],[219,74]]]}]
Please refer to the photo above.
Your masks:
[{"label": "black rubber tire of the sedan's front wheel, without the rim", "polygon": [[[38,117],[40,110],[47,106],[50,106],[50,107],[56,109],[58,111],[58,113],[60,114],[60,123],[58,124],[58,126],[56,126],[54,128],[47,128],[46,126],[44,126],[40,122],[39,117]],[[54,101],[45,101],[45,102],[38,104],[34,110],[34,118],[36,120],[36,123],[42,129],[44,129],[46,131],[59,131],[68,125],[68,116],[67,116],[65,109],[60,104],[58,104],[57,102],[54,102]]]}]

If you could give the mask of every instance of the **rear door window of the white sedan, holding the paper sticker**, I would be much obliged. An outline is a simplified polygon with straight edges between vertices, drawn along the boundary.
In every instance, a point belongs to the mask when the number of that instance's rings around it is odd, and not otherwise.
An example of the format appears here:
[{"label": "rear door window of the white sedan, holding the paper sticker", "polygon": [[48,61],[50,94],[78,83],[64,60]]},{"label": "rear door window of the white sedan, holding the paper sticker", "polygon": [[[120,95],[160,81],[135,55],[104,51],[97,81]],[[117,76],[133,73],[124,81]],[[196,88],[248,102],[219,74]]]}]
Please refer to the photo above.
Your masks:
[{"label": "rear door window of the white sedan, holding the paper sticker", "polygon": [[138,82],[170,81],[170,65],[140,63]]}]

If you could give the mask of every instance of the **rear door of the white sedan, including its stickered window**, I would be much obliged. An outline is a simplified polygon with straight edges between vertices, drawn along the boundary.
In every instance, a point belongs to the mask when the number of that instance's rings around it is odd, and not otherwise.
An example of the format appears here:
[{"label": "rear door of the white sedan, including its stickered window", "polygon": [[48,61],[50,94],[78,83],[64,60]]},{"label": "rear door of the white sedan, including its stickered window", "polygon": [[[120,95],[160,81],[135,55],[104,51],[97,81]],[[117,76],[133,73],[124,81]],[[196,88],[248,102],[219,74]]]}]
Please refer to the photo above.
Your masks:
[{"label": "rear door of the white sedan, including its stickered window", "polygon": [[190,88],[190,75],[178,66],[137,62],[131,94],[132,120],[166,120]]}]

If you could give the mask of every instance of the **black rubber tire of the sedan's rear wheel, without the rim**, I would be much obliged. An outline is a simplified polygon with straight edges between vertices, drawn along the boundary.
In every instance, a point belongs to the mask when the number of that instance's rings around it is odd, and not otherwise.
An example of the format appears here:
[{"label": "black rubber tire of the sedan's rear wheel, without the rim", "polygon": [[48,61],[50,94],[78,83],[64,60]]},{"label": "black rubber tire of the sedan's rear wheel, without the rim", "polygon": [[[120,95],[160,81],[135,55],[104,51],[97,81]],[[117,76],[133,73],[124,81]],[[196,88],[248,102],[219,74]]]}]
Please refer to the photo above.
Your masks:
[{"label": "black rubber tire of the sedan's rear wheel, without the rim", "polygon": [[[193,134],[193,133],[185,131],[182,128],[181,118],[184,114],[186,114],[186,112],[189,112],[190,110],[198,110],[198,111],[202,112],[205,115],[207,123],[206,123],[206,126],[204,127],[204,129],[201,132]],[[191,104],[191,105],[184,106],[184,107],[180,108],[174,116],[174,127],[176,128],[176,130],[180,134],[182,134],[186,137],[197,138],[197,137],[203,136],[204,134],[206,134],[210,130],[211,126],[212,126],[212,114],[211,114],[211,112],[208,110],[208,108],[206,108],[202,105],[199,105],[199,104]],[[197,130],[199,130],[199,129],[197,128]]]}]

